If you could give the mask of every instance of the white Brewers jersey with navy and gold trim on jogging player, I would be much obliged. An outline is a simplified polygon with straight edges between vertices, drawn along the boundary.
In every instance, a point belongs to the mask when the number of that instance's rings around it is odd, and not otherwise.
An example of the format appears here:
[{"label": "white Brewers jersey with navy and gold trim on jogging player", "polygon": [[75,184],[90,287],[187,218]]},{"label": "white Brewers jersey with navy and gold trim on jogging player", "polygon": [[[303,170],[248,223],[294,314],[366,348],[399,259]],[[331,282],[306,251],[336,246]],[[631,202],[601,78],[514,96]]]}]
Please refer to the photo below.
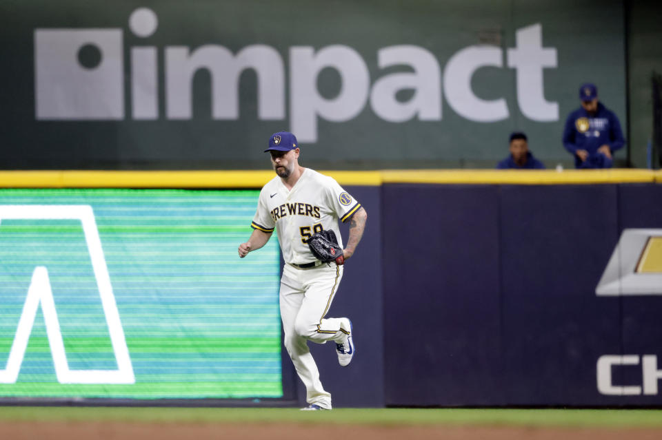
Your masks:
[{"label": "white Brewers jersey with navy and gold trim on jogging player", "polygon": [[315,261],[305,240],[332,229],[343,247],[338,220],[347,221],[360,207],[333,178],[305,168],[291,190],[279,176],[264,185],[250,226],[264,232],[276,229],[283,260],[305,264]]}]

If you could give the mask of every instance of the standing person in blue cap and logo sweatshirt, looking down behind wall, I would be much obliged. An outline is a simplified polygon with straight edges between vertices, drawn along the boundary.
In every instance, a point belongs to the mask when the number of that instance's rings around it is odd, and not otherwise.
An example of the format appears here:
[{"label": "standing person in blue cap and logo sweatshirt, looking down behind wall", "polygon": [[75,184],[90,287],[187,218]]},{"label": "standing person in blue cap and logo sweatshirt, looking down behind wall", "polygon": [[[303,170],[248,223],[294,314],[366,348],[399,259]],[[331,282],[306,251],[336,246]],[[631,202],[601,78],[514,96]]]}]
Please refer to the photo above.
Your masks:
[{"label": "standing person in blue cap and logo sweatshirt, looking down behind wall", "polygon": [[563,147],[574,155],[575,168],[611,168],[614,151],[625,145],[621,123],[614,112],[598,101],[598,89],[579,87],[581,108],[568,115]]}]

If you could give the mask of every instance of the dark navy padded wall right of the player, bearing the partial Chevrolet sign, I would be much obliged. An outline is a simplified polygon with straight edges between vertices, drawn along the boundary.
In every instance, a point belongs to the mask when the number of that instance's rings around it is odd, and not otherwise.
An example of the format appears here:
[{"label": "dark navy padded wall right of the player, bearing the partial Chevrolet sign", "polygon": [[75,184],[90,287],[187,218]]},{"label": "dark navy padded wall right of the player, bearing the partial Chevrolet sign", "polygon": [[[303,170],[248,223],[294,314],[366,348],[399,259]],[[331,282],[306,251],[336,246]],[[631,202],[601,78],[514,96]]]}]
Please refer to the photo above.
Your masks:
[{"label": "dark navy padded wall right of the player, bearing the partial Chevrolet sign", "polygon": [[[386,185],[383,200],[384,255],[408,250],[383,264],[387,405],[662,403],[642,365],[662,355],[660,262],[643,294],[596,295],[623,231],[662,235],[662,187]],[[628,359],[596,372],[607,355]]]}]

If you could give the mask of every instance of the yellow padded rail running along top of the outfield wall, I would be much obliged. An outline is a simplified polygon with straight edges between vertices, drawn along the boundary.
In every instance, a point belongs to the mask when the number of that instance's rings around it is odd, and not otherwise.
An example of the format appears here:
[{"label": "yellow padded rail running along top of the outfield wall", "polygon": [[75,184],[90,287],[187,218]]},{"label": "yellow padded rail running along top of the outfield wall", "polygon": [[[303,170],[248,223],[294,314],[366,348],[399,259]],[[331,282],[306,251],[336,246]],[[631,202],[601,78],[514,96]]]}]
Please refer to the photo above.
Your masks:
[{"label": "yellow padded rail running along top of the outfield wall", "polygon": [[[383,183],[490,185],[570,185],[599,183],[662,183],[662,171],[599,170],[382,170],[320,171],[341,185]],[[261,188],[272,170],[232,171],[0,171],[2,188]]]}]

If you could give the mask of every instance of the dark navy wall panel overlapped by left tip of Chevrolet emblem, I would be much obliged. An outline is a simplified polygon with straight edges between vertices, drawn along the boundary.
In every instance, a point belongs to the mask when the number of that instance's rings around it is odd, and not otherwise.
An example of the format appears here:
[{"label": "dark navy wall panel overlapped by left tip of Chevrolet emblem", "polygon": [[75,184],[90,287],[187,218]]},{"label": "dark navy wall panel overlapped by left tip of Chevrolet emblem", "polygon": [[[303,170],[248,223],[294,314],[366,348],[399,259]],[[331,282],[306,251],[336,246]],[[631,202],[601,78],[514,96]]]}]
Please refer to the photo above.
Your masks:
[{"label": "dark navy wall panel overlapped by left tip of Chevrolet emblem", "polygon": [[596,362],[620,351],[619,301],[595,289],[618,240],[616,185],[501,187],[508,403],[608,404]]}]

